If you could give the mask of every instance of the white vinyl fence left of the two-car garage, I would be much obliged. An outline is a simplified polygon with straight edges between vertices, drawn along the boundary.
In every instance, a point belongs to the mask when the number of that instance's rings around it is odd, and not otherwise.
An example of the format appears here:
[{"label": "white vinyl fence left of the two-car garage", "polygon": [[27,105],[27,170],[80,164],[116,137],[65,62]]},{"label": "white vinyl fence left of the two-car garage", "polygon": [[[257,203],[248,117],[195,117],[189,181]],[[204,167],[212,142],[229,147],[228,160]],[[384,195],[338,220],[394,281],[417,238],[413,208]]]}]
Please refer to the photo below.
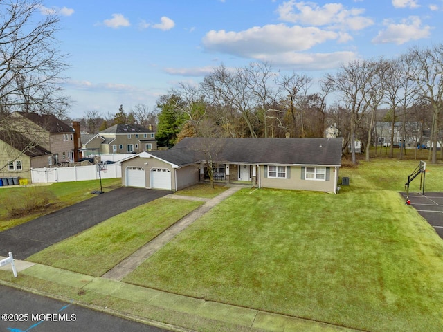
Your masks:
[{"label": "white vinyl fence left of the two-car garage", "polygon": [[73,167],[51,167],[31,169],[33,183],[53,183],[96,180],[98,178],[121,178],[120,164],[105,165],[107,170],[98,173],[98,165],[73,166]]}]

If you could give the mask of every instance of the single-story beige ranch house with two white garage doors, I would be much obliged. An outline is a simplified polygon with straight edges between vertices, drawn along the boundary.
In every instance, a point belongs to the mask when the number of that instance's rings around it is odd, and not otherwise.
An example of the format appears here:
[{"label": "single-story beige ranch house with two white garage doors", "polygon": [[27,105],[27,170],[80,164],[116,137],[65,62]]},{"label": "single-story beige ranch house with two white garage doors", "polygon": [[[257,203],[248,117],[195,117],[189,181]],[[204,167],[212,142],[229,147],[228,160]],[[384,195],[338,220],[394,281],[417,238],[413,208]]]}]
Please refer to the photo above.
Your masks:
[{"label": "single-story beige ranch house with two white garage doors", "polygon": [[181,190],[204,181],[210,163],[226,183],[336,193],[341,145],[341,138],[185,138],[122,160],[122,183]]}]

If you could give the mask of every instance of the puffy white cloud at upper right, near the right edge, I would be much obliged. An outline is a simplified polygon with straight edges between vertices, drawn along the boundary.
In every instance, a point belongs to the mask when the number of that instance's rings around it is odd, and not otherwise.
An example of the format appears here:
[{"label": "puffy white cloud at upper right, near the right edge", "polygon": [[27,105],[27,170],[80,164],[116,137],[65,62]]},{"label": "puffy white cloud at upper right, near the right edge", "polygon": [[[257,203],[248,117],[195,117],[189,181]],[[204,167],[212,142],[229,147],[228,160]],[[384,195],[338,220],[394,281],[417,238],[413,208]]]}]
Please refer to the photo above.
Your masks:
[{"label": "puffy white cloud at upper right, near the right edge", "polygon": [[387,20],[384,22],[384,25],[386,29],[381,30],[379,34],[372,39],[374,44],[393,43],[401,45],[411,40],[428,38],[431,35],[431,27],[422,26],[422,21],[419,17],[415,16],[403,19],[399,24]]}]

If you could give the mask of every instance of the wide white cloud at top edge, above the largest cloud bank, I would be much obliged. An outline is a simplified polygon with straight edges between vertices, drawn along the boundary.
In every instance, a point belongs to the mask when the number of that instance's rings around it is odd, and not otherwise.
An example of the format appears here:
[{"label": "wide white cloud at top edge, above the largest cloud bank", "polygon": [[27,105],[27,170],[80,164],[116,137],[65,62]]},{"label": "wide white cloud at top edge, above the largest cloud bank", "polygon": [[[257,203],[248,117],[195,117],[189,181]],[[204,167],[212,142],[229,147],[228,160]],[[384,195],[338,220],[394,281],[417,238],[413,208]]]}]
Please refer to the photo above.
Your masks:
[{"label": "wide white cloud at top edge, above the largest cloud bank", "polygon": [[289,0],[278,6],[277,12],[282,21],[311,26],[361,30],[374,24],[372,19],[362,16],[363,8],[347,9],[341,3],[320,7],[312,2]]}]

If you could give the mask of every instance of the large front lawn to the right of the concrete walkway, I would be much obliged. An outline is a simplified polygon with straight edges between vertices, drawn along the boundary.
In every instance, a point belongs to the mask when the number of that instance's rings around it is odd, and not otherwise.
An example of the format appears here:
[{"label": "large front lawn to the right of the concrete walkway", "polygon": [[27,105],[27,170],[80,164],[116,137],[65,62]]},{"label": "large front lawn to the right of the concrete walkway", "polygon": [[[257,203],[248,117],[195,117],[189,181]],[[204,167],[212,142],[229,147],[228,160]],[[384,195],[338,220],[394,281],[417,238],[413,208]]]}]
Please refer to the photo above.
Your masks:
[{"label": "large front lawn to the right of the concrete walkway", "polygon": [[365,331],[442,331],[442,275],[443,241],[397,192],[242,190],[123,281]]}]

